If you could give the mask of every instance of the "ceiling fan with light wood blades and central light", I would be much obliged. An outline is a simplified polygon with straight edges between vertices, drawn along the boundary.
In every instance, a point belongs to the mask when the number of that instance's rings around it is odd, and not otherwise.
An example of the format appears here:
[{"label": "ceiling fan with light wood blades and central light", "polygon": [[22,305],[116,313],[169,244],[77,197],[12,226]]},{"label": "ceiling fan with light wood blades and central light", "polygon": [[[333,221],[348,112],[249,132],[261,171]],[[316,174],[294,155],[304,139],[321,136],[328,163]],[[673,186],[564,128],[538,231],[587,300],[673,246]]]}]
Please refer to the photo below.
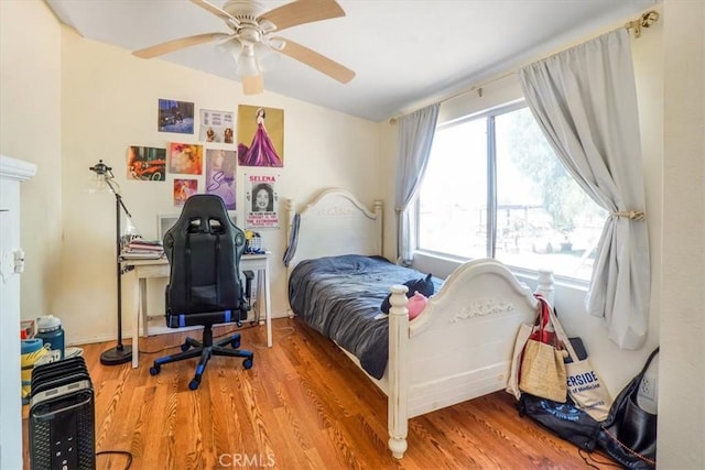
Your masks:
[{"label": "ceiling fan with light wood blades and central light", "polygon": [[262,2],[257,0],[228,0],[221,9],[206,0],[191,1],[224,20],[232,32],[181,37],[134,51],[132,54],[152,58],[185,47],[225,40],[221,46],[235,57],[236,75],[241,78],[246,95],[263,91],[262,73],[273,66],[280,53],[343,84],[355,77],[355,72],[337,62],[291,40],[273,35],[286,28],[345,17],[345,11],[335,0],[296,0],[270,11],[264,11]]}]

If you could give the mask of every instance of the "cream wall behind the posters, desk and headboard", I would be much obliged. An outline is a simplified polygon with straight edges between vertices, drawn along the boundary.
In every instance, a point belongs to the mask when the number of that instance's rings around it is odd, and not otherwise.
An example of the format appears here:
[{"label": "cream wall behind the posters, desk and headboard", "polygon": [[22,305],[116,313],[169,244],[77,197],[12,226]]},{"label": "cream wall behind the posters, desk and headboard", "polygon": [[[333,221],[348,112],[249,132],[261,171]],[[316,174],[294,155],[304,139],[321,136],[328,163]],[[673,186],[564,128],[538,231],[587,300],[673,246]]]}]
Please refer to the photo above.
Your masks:
[{"label": "cream wall behind the posters, desk and headboard", "polygon": [[[85,342],[116,337],[115,198],[86,193],[88,167],[102,159],[113,167],[123,201],[140,232],[155,237],[156,214],[178,212],[172,203],[171,181],[126,179],[130,145],[164,147],[167,142],[197,142],[196,135],[156,131],[159,98],[194,102],[198,109],[237,112],[238,105],[284,110],[284,167],[265,173],[280,176],[280,198],[303,203],[322,187],[344,187],[366,203],[377,197],[378,128],[373,122],[315,107],[271,92],[245,97],[238,83],[174,64],[144,61],[129,52],[62,32],[63,219],[62,288],[57,314],[67,341]],[[237,114],[236,114],[237,116]],[[237,119],[237,118],[236,118]],[[197,129],[196,129],[197,132]],[[238,168],[238,208],[243,173]],[[200,184],[203,188],[203,182]],[[285,313],[284,208],[280,199],[279,229],[262,229],[263,245],[272,251],[272,310]],[[238,210],[243,220],[242,210]],[[131,331],[134,305],[133,274],[123,276],[123,334]],[[164,282],[149,285],[151,305],[163,309]]]}]

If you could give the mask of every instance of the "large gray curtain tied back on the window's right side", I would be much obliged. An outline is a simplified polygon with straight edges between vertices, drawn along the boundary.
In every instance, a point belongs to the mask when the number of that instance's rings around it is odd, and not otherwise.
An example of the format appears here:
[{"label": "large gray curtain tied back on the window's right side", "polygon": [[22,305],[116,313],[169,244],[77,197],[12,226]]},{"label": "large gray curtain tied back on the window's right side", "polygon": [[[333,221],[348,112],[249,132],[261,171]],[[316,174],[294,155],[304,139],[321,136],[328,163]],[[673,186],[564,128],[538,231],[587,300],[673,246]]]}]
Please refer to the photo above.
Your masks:
[{"label": "large gray curtain tied back on the window's right side", "polygon": [[566,170],[610,212],[586,298],[609,339],[637,349],[649,324],[650,262],[637,91],[620,29],[519,70],[524,97]]}]

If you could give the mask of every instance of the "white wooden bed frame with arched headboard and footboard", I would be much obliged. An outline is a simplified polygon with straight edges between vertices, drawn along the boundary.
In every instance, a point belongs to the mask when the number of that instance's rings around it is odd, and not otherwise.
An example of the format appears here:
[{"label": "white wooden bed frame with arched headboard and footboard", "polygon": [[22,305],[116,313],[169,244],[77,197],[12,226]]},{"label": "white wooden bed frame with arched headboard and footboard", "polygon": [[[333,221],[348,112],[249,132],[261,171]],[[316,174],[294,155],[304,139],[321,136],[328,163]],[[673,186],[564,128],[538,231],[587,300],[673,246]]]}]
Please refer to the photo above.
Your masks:
[{"label": "white wooden bed frame with arched headboard and footboard", "polygon": [[[299,236],[290,272],[307,259],[381,255],[381,201],[369,210],[352,194],[327,189],[296,212],[289,200],[290,236],[296,214]],[[538,285],[552,302],[551,273],[540,273]],[[519,326],[533,320],[536,302],[505,265],[489,259],[460,265],[412,321],[406,287],[390,291],[387,371],[381,380],[370,380],[388,396],[389,448],[401,459],[410,418],[506,389]],[[359,367],[357,358],[345,352]]]}]

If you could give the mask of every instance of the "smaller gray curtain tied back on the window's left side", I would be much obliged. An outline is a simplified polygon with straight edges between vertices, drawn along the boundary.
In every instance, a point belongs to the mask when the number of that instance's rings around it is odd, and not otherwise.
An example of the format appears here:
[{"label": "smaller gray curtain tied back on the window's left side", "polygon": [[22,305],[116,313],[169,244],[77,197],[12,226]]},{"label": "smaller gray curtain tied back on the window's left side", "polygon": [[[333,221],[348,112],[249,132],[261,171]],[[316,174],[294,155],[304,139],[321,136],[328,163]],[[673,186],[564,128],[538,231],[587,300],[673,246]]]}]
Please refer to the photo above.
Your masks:
[{"label": "smaller gray curtain tied back on the window's left side", "polygon": [[399,118],[394,211],[397,212],[398,262],[411,264],[416,248],[411,203],[426,171],[440,103]]}]

